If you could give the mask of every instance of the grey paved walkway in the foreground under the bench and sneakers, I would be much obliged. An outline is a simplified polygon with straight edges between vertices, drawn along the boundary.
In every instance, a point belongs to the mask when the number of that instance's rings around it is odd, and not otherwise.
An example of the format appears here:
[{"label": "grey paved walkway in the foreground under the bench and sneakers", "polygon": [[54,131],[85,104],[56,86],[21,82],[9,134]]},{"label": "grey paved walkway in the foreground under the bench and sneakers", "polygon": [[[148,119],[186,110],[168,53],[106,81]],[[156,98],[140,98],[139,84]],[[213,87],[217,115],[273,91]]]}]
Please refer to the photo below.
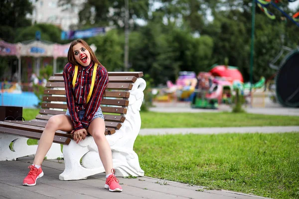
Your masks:
[{"label": "grey paved walkway in the foreground under the bench and sneakers", "polygon": [[[86,180],[60,181],[64,170],[63,161],[43,163],[44,176],[36,186],[22,186],[22,180],[32,164],[30,157],[17,161],[0,161],[0,199],[262,199],[230,191],[206,190],[203,187],[163,181],[148,177],[137,179],[119,178],[122,193],[110,193],[104,189],[105,175],[94,175]],[[265,198],[264,198],[265,199]]]}]

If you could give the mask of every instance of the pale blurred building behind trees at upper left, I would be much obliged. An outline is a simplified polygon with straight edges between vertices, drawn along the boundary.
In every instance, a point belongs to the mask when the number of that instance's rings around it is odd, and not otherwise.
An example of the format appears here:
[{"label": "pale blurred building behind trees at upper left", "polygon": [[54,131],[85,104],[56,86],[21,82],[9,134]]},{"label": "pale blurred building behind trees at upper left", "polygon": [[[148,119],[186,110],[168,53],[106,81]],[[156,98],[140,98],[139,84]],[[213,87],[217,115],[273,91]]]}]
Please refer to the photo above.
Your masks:
[{"label": "pale blurred building behind trees at upper left", "polygon": [[59,6],[59,0],[30,0],[34,6],[31,18],[33,23],[51,23],[59,26],[62,30],[70,30],[72,24],[79,21],[80,7],[86,0],[74,0],[74,6]]}]

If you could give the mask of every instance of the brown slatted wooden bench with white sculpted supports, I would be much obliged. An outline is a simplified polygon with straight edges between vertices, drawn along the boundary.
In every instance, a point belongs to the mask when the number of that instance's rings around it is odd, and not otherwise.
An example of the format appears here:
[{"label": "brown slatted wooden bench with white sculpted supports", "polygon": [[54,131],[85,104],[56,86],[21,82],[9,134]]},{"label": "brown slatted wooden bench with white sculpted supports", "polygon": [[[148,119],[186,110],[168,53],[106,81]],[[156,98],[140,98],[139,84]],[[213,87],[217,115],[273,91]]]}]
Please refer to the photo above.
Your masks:
[{"label": "brown slatted wooden bench with white sculpted supports", "polygon": [[[104,113],[107,140],[112,149],[113,164],[117,176],[143,176],[138,155],[133,146],[141,127],[140,107],[144,99],[146,82],[142,72],[109,72],[109,84],[101,108]],[[39,139],[52,115],[65,114],[67,109],[62,74],[50,77],[44,90],[39,114],[29,121],[0,121],[0,160],[35,154],[36,146],[26,144],[28,138]],[[13,150],[9,149],[13,143]],[[65,170],[60,180],[79,180],[104,172],[97,146],[92,136],[80,143],[71,134],[56,131],[50,152],[59,157],[60,144],[63,144]],[[57,144],[56,144],[57,143]],[[4,146],[4,147],[2,147]],[[7,155],[1,154],[7,153]],[[60,152],[61,153],[61,152]],[[57,155],[58,154],[58,155]],[[50,156],[50,158],[49,158]],[[46,155],[47,159],[53,158]]]}]

